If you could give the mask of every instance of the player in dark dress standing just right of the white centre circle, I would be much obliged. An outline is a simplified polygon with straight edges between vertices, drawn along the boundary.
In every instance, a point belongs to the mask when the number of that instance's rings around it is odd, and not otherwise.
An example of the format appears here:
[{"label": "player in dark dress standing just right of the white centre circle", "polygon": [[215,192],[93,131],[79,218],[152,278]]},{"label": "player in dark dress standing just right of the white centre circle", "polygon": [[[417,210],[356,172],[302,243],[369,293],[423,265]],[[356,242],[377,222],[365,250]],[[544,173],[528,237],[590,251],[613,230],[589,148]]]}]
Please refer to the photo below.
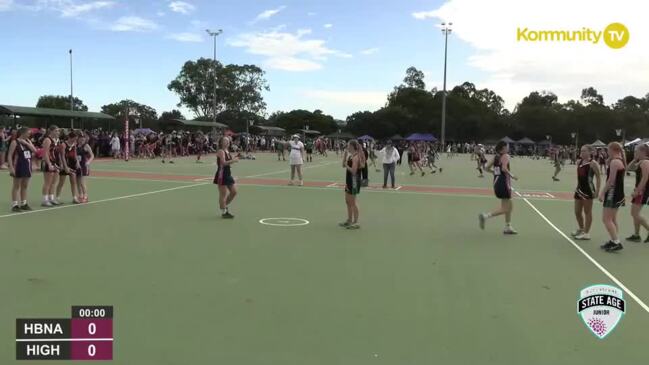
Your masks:
[{"label": "player in dark dress standing just right of the white centre circle", "polygon": [[340,223],[343,228],[361,228],[358,225],[359,212],[356,197],[361,192],[361,170],[365,164],[365,155],[358,141],[349,141],[343,159],[343,167],[345,168],[345,204],[347,205],[347,220]]}]

